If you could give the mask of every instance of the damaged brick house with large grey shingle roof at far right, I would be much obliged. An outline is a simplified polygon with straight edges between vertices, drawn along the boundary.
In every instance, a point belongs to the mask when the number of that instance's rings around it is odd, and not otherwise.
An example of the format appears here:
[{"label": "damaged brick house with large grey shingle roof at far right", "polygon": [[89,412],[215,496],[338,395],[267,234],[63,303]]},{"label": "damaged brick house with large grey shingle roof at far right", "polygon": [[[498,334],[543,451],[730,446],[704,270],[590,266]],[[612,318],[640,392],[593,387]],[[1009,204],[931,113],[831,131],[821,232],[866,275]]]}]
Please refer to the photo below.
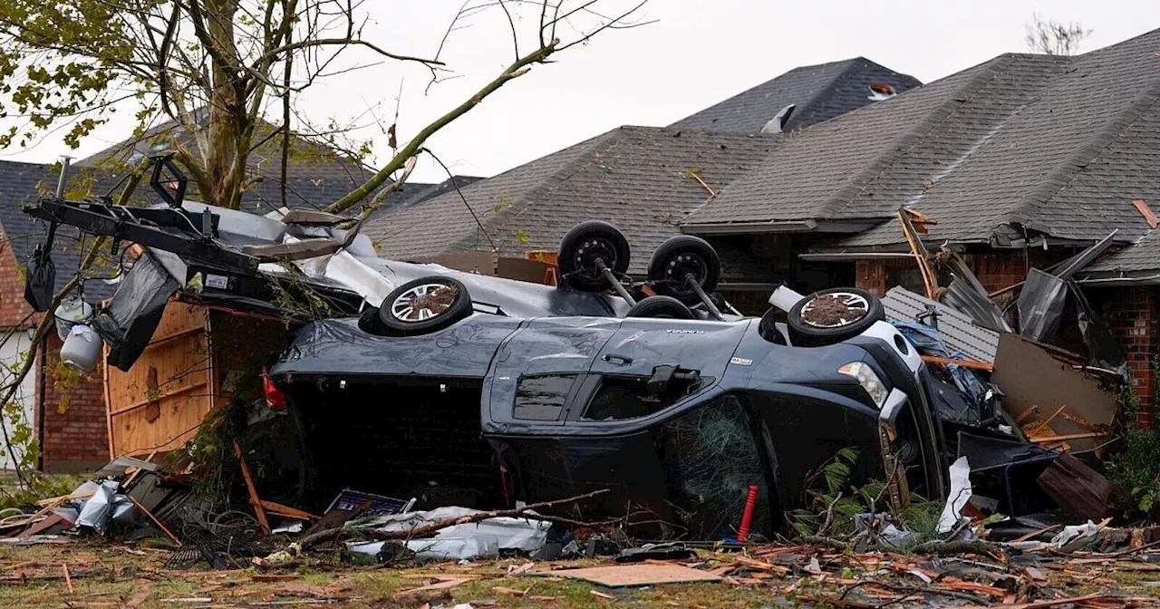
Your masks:
[{"label": "damaged brick house with large grey shingle roof at far right", "polygon": [[[922,291],[894,219],[901,205],[937,220],[922,235],[927,246],[960,252],[992,292],[1115,231],[1124,251],[1078,278],[1150,405],[1155,299],[1139,280],[1147,255],[1133,251],[1148,247],[1148,205],[1160,202],[1158,51],[1160,30],[1078,57],[996,57],[785,138],[681,230],[782,244],[803,266],[853,271],[856,285],[878,293]],[[795,244],[803,239],[807,252]]]}]

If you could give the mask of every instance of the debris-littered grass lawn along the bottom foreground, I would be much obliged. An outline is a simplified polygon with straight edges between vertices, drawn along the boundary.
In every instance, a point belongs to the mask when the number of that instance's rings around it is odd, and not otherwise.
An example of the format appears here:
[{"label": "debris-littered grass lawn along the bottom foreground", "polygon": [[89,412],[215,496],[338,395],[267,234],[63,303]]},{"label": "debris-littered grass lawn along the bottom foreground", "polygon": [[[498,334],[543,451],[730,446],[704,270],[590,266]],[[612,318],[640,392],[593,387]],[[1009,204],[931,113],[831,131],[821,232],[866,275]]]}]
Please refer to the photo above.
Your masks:
[{"label": "debris-littered grass lawn along the bottom foreground", "polygon": [[[522,558],[471,565],[443,563],[426,566],[333,566],[319,557],[276,571],[172,571],[164,566],[167,550],[102,539],[79,539],[60,545],[0,548],[0,602],[7,607],[560,607],[606,608],[741,608],[741,607],[873,607],[898,593],[864,583],[839,602],[843,589],[854,588],[857,564],[864,557],[821,553],[821,574],[791,570],[778,574],[757,570],[737,571],[724,581],[660,585],[641,588],[604,588],[556,577],[509,574],[524,568]],[[693,561],[699,568],[733,563],[732,554],[704,552]],[[908,560],[886,556],[883,560]],[[588,566],[595,561],[560,563]],[[68,566],[68,578],[65,567]],[[536,570],[550,565],[541,563]],[[1117,590],[1130,596],[1157,596],[1160,565],[1147,563],[1054,565],[1039,570],[1046,587],[1065,596]],[[876,575],[899,588],[921,587],[905,572]],[[445,588],[416,590],[440,581],[463,580]],[[71,589],[70,589],[71,582]],[[936,583],[935,586],[938,586]],[[854,594],[854,593],[857,594]],[[869,594],[868,596],[862,594]],[[893,594],[893,596],[890,596]],[[878,599],[877,602],[873,600]],[[935,599],[931,596],[930,599]],[[892,603],[914,606],[922,596]],[[955,599],[944,599],[955,601]],[[963,601],[957,601],[963,604]],[[995,603],[1002,602],[995,599]],[[1157,601],[1160,602],[1160,601]],[[1137,602],[1136,606],[1145,603]],[[1123,603],[1104,607],[1123,607]]]}]

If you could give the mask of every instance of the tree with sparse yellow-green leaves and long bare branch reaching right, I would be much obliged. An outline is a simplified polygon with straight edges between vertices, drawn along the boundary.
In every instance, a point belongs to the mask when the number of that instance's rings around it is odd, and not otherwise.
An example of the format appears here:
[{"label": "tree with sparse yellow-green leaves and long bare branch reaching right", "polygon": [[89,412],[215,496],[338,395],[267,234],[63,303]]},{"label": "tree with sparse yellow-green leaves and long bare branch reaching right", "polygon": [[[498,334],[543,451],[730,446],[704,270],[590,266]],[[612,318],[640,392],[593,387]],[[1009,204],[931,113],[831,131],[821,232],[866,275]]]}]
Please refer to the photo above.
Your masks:
[{"label": "tree with sparse yellow-green leaves and long bare branch reaching right", "polygon": [[[342,148],[335,130],[310,128],[292,108],[305,89],[335,73],[328,68],[340,56],[357,49],[363,65],[356,67],[422,65],[437,81],[451,72],[440,59],[450,34],[480,14],[505,15],[514,61],[401,147],[392,129],[393,158],[333,205],[341,211],[400,172],[430,135],[530,66],[599,31],[638,24],[629,20],[643,2],[597,10],[618,1],[624,0],[469,0],[454,15],[440,51],[422,57],[364,37],[369,20],[391,9],[370,0],[6,0],[0,2],[0,117],[21,121],[0,133],[0,147],[28,146],[59,129],[67,129],[65,140],[75,147],[113,113],[132,109],[136,136],[162,121],[190,135],[171,143],[176,160],[203,201],[235,209],[242,193],[263,177],[251,162],[262,146],[278,148],[283,183],[296,148],[291,135],[312,138],[325,151],[340,148],[354,162],[365,157],[365,145]],[[521,28],[529,23],[538,24],[538,44],[521,53],[521,38],[531,39]],[[572,39],[560,41],[558,30]],[[292,123],[304,129],[295,131]]]}]

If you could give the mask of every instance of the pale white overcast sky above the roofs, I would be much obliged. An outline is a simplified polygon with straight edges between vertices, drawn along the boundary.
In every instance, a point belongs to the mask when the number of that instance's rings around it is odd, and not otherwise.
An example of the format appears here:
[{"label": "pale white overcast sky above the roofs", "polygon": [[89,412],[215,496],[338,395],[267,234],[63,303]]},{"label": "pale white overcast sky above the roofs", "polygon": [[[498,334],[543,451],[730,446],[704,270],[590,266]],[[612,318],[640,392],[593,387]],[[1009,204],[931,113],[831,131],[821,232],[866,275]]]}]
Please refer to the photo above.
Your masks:
[{"label": "pale white overcast sky above the roofs", "polygon": [[[626,6],[602,0],[606,10]],[[633,2],[635,3],[635,2]],[[370,0],[365,37],[400,53],[432,56],[462,0]],[[601,3],[597,3],[601,6]],[[666,125],[793,67],[865,57],[929,82],[1003,52],[1024,52],[1032,13],[1076,21],[1093,34],[1089,51],[1160,28],[1154,0],[651,0],[641,16],[655,23],[608,30],[536,66],[429,140],[456,174],[494,175],[623,124]],[[517,16],[523,51],[537,15]],[[463,102],[513,59],[502,13],[476,16],[454,31],[443,58],[458,78],[425,94],[428,74],[387,64],[334,77],[299,102],[316,123],[361,117],[358,136],[374,138],[379,161],[400,82],[399,140]],[[580,24],[583,26],[583,24]],[[565,41],[573,32],[561,29]],[[350,53],[345,66],[372,61]],[[368,114],[368,110],[374,110]],[[49,162],[84,157],[123,139],[131,108],[70,152],[59,135],[0,158]],[[374,125],[380,118],[382,126]],[[412,181],[445,174],[423,160]]]}]

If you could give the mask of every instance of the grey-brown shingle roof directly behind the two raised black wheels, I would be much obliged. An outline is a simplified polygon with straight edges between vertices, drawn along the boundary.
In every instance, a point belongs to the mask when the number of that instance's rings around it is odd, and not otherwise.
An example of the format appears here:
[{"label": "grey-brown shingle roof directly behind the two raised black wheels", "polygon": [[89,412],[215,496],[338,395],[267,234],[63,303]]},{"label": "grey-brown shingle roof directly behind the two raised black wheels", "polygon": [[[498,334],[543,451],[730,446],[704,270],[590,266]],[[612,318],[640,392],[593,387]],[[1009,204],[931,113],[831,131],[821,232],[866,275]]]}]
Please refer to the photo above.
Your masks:
[{"label": "grey-brown shingle roof directly behind the two raised black wheels", "polygon": [[363,231],[385,258],[433,259],[490,251],[492,242],[503,255],[521,255],[554,251],[573,225],[603,219],[629,238],[630,270],[639,273],[661,241],[679,234],[677,222],[709,196],[694,174],[720,188],[760,162],[774,142],[774,136],[622,126],[462,188],[470,211],[451,191]]}]

